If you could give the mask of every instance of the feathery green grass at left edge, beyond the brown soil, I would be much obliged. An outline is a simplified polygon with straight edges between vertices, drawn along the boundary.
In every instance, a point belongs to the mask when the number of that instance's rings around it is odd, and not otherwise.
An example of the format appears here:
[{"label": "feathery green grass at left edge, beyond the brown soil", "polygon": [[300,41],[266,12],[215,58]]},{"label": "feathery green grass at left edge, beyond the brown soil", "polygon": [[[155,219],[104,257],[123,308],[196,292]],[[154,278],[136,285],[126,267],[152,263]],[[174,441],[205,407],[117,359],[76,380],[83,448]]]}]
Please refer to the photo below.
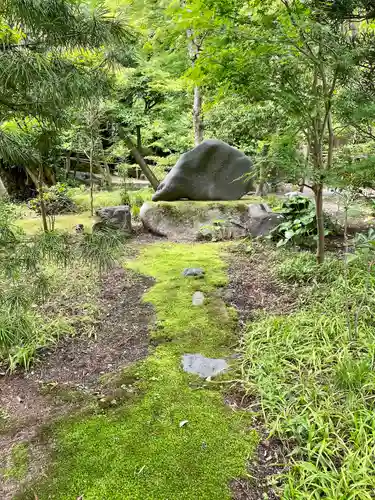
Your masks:
[{"label": "feathery green grass at left edge, beyond the brown soil", "polygon": [[0,204],[0,365],[10,370],[29,368],[41,347],[73,333],[64,311],[43,314],[57,276],[77,279],[77,267],[101,275],[118,261],[125,242],[116,231],[40,232],[29,237],[14,219],[12,207]]}]

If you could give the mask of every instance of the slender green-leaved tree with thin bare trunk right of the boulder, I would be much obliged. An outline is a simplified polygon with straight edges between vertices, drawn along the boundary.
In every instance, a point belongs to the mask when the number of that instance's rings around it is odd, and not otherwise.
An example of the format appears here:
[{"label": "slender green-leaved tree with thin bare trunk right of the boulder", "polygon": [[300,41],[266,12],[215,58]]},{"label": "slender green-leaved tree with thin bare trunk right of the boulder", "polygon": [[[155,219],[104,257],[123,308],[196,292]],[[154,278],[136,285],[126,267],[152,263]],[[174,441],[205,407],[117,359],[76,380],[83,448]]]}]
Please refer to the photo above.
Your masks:
[{"label": "slender green-leaved tree with thin bare trunk right of the boulder", "polygon": [[[279,138],[288,136],[294,151],[308,152],[301,181],[308,178],[314,191],[318,224],[318,260],[324,258],[323,187],[334,185],[335,153],[340,141],[364,119],[365,114],[341,112],[372,98],[363,85],[371,59],[368,41],[371,26],[358,26],[345,16],[333,15],[319,2],[280,0],[269,2],[215,2],[208,5],[222,22],[222,37],[206,40],[206,58],[200,77],[219,92],[239,94],[249,107],[272,106],[284,117]],[[361,87],[361,94],[350,89]],[[360,100],[360,99],[359,99]],[[265,121],[263,121],[265,124]],[[275,128],[275,124],[272,126]],[[341,128],[341,131],[339,131]],[[272,131],[268,130],[268,135]],[[267,134],[264,134],[266,138]],[[279,141],[280,142],[280,141]],[[284,168],[294,177],[287,162]],[[263,173],[261,173],[263,177]],[[261,181],[262,182],[262,181]]]}]

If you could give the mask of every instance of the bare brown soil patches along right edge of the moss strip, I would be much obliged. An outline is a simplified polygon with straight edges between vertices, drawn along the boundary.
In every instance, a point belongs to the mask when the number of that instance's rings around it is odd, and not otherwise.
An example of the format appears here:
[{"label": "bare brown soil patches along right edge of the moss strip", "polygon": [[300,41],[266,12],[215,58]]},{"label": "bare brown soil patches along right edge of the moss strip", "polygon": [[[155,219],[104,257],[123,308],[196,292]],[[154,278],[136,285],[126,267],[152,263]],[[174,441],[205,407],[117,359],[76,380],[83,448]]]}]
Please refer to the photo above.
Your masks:
[{"label": "bare brown soil patches along right edge of the moss strip", "polygon": [[[239,314],[239,333],[260,311],[288,314],[296,307],[298,288],[280,283],[272,272],[271,253],[255,249],[252,255],[234,253],[229,258],[229,285],[225,292],[227,302]],[[280,474],[288,470],[288,446],[269,438],[265,424],[259,417],[260,401],[242,389],[234,390],[225,398],[233,410],[254,414],[251,428],[260,436],[255,457],[248,463],[249,477],[234,479],[231,484],[233,500],[278,500],[277,486]]]}]

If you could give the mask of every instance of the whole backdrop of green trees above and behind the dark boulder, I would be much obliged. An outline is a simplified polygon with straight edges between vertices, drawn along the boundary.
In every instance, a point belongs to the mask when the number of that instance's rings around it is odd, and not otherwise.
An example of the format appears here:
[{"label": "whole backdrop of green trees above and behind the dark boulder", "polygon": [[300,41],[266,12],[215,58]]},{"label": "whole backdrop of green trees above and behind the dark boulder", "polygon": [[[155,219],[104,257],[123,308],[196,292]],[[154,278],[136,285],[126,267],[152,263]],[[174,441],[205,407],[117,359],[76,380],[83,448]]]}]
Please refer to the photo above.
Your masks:
[{"label": "whole backdrop of green trees above and behind the dark boulder", "polygon": [[0,168],[11,195],[35,194],[41,164],[42,185],[77,167],[83,136],[77,151],[66,138],[96,99],[96,173],[109,180],[108,165],[136,162],[155,188],[180,153],[223,139],[254,158],[258,194],[278,181],[313,189],[322,261],[324,186],[373,184],[371,2],[34,3],[33,13],[19,0],[0,12]]}]

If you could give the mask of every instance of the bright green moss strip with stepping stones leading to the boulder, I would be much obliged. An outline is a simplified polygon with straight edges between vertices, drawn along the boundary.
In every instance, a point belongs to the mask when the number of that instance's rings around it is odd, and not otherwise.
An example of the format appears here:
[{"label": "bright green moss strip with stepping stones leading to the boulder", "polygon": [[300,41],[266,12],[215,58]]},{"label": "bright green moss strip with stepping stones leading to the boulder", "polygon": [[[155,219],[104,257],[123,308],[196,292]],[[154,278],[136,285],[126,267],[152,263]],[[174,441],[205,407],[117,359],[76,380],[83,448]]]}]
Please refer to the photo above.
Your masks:
[{"label": "bright green moss strip with stepping stones leading to the boulder", "polygon": [[[156,280],[144,300],[155,307],[151,335],[160,344],[114,377],[132,397],[53,429],[58,451],[49,479],[22,498],[231,497],[229,483],[246,475],[246,460],[257,442],[250,416],[224,405],[221,384],[181,369],[184,353],[224,356],[235,343],[234,313],[216,293],[227,282],[221,251],[213,244],[152,245],[129,264]],[[203,267],[205,278],[184,278],[186,267]],[[201,307],[192,305],[196,290],[206,297]]]}]

